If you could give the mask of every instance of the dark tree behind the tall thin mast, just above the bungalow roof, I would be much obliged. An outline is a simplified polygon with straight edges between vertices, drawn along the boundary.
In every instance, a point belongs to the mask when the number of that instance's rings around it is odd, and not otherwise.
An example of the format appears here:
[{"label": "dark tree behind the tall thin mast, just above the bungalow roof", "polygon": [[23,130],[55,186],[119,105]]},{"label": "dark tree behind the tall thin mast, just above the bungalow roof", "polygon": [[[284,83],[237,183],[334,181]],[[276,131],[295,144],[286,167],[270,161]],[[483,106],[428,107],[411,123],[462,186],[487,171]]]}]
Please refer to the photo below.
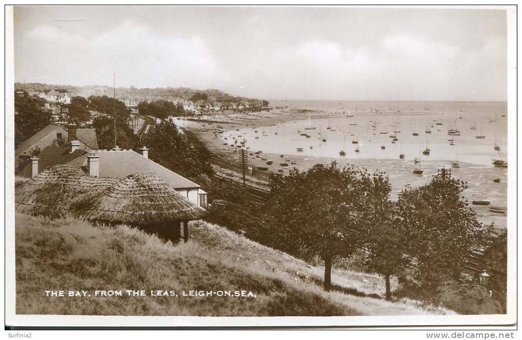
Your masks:
[{"label": "dark tree behind the tall thin mast, just above the bungalow roof", "polygon": [[[92,120],[92,127],[96,129],[98,146],[100,149],[112,149],[114,147],[114,119],[109,116],[98,116]],[[131,149],[138,145],[138,138],[133,129],[127,124],[127,119],[116,117],[116,145]]]}]

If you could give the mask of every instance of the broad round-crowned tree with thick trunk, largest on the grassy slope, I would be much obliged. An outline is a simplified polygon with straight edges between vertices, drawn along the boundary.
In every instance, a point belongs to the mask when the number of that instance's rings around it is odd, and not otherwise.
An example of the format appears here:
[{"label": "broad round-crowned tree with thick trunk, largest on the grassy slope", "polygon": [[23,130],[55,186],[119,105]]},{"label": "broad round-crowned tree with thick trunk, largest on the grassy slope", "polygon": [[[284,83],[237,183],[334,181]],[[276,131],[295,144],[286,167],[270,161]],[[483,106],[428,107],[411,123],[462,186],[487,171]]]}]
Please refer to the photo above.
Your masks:
[{"label": "broad round-crowned tree with thick trunk, largest on the grassy slope", "polygon": [[333,162],[273,175],[265,209],[286,231],[282,242],[299,243],[306,253],[323,259],[324,287],[329,290],[332,260],[350,257],[362,247],[371,228],[385,216],[389,192],[383,174],[340,169]]}]

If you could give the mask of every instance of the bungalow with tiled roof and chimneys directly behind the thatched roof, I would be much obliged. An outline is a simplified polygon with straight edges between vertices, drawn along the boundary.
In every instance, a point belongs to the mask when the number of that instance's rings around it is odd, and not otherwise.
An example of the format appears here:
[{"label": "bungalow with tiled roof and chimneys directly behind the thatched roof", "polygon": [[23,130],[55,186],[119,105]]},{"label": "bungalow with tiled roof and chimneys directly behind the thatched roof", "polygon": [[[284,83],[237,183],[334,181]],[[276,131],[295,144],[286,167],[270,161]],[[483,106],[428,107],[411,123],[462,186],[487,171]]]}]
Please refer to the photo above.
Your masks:
[{"label": "bungalow with tiled roof and chimneys directly behind the thatched roof", "polygon": [[38,160],[33,159],[20,170],[20,175],[34,177],[35,174],[57,164],[75,167],[85,174],[97,177],[125,178],[137,172],[153,172],[189,201],[207,208],[207,193],[198,184],[150,160],[148,149],[145,147],[141,148],[141,154],[138,154],[134,150],[122,150],[118,147],[87,152],[79,148],[76,140],[69,145],[69,148],[44,149]]}]

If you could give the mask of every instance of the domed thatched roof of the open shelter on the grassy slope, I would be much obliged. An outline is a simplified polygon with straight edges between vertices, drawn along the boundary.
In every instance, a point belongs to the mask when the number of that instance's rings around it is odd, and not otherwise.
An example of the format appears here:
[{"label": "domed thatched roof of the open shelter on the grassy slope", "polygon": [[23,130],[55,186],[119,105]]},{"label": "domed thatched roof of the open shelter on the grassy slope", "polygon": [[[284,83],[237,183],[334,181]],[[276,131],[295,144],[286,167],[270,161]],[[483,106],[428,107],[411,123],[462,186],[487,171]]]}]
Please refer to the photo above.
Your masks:
[{"label": "domed thatched roof of the open shelter on the grassy slope", "polygon": [[81,175],[56,166],[16,188],[16,209],[30,215],[73,215],[87,220],[151,224],[199,219],[200,208],[177,193],[155,173],[123,179]]}]

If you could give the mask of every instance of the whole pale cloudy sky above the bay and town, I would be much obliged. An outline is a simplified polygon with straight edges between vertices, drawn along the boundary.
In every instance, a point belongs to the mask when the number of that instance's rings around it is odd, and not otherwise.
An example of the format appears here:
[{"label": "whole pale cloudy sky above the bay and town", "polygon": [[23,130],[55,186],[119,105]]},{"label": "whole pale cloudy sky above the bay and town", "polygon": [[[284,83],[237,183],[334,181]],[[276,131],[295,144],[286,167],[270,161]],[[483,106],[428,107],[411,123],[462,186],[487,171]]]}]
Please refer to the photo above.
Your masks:
[{"label": "whole pale cloudy sky above the bay and town", "polygon": [[501,10],[17,7],[15,81],[268,99],[505,100]]}]

